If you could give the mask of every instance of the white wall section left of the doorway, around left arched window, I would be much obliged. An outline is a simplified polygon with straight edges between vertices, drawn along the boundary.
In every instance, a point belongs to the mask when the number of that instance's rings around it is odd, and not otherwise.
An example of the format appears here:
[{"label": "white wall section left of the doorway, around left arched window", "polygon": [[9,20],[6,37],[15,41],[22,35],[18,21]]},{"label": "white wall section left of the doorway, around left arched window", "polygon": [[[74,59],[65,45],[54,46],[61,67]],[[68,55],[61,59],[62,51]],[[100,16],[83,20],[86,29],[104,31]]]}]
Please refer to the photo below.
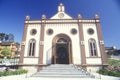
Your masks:
[{"label": "white wall section left of the doorway, around left arched window", "polygon": [[[32,29],[36,29],[37,33],[36,35],[31,35],[30,32]],[[24,53],[24,64],[38,64],[38,57],[39,57],[39,46],[40,46],[40,24],[29,24],[27,28],[27,36],[26,36],[26,42],[25,42],[25,53]],[[36,46],[35,46],[35,56],[28,59],[28,53],[29,53],[29,41],[30,39],[36,40]],[[33,58],[35,58],[33,60]],[[37,59],[36,59],[37,58]],[[29,61],[30,60],[30,61]]]}]

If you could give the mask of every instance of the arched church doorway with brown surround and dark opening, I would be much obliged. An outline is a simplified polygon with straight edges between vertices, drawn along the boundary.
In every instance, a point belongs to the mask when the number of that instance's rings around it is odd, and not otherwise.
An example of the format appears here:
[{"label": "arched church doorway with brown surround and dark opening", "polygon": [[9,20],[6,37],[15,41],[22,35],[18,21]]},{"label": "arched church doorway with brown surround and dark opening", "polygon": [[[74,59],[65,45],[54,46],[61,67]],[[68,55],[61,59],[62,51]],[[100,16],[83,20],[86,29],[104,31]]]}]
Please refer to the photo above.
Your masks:
[{"label": "arched church doorway with brown surround and dark opening", "polygon": [[52,63],[72,64],[71,40],[65,34],[53,38]]}]

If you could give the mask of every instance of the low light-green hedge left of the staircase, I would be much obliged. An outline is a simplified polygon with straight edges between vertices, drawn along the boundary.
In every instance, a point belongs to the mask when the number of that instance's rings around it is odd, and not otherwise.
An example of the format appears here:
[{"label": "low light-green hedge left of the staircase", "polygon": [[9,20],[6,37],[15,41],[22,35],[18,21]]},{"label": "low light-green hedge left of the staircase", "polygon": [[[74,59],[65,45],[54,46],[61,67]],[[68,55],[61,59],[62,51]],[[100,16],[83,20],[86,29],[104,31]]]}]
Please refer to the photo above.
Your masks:
[{"label": "low light-green hedge left of the staircase", "polygon": [[15,71],[5,71],[5,72],[0,72],[0,76],[9,76],[9,75],[20,75],[27,73],[27,70],[24,69],[17,69]]}]

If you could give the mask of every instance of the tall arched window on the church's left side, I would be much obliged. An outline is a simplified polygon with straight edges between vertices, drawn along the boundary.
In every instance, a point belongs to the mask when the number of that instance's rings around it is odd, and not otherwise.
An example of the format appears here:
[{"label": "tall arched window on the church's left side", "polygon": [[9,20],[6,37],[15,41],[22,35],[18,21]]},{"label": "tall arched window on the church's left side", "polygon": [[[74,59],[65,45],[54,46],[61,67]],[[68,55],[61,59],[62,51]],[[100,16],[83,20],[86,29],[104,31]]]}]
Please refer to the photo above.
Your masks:
[{"label": "tall arched window on the church's left side", "polygon": [[31,39],[29,41],[29,54],[28,56],[34,56],[35,55],[35,39]]}]

